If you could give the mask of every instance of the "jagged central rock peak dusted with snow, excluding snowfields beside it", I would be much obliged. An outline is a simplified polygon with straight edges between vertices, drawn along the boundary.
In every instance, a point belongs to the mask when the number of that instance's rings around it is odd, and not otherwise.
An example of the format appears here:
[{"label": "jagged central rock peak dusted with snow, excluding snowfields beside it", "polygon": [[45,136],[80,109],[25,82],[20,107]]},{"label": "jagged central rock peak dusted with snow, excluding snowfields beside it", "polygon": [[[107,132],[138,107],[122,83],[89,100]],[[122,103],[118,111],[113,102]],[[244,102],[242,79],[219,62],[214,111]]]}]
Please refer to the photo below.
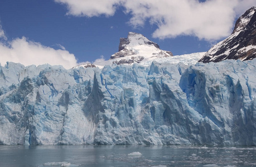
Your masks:
[{"label": "jagged central rock peak dusted with snow, excluding snowfields beside it", "polygon": [[154,43],[143,35],[129,32],[127,38],[120,38],[118,52],[110,57],[113,63],[132,64],[142,62],[153,57],[171,57],[170,51],[160,50],[157,43]]}]

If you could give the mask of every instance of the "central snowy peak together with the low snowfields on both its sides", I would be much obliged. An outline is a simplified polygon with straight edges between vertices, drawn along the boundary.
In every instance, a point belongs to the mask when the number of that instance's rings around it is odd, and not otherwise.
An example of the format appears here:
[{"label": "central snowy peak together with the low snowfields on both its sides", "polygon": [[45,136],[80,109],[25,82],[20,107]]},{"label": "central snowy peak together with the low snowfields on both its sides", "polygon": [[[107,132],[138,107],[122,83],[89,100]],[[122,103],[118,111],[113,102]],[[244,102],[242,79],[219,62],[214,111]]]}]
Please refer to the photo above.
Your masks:
[{"label": "central snowy peak together with the low snowfields on both its sides", "polygon": [[103,68],[113,63],[117,65],[133,65],[133,63],[139,63],[139,65],[142,66],[150,66],[153,61],[173,64],[184,63],[188,65],[197,63],[205,53],[206,52],[198,52],[173,56],[170,51],[161,50],[157,43],[148,40],[145,36],[139,33],[129,32],[127,38],[120,38],[119,51],[112,55],[109,60],[101,58],[93,63],[83,63],[74,68]]}]

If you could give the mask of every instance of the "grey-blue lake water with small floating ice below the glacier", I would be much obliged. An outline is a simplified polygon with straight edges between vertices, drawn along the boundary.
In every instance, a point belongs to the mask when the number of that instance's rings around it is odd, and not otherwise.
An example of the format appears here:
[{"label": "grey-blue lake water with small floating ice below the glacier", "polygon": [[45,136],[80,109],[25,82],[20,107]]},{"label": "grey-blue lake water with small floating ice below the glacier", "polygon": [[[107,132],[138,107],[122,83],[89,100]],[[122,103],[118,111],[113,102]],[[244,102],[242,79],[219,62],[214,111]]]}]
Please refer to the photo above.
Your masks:
[{"label": "grey-blue lake water with small floating ice below the glacier", "polygon": [[2,145],[0,166],[256,166],[256,148]]}]

